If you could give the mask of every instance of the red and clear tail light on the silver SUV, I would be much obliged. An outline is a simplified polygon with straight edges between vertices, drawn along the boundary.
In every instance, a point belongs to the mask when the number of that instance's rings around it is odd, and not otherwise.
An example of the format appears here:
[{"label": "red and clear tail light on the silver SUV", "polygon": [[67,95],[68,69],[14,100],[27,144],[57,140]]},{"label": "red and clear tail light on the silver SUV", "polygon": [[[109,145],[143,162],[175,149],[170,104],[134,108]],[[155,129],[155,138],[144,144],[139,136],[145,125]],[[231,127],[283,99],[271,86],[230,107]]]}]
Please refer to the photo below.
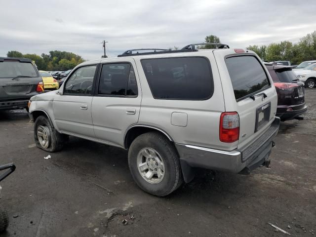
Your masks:
[{"label": "red and clear tail light on the silver SUV", "polygon": [[219,140],[221,142],[236,142],[239,138],[239,115],[237,112],[221,114]]}]

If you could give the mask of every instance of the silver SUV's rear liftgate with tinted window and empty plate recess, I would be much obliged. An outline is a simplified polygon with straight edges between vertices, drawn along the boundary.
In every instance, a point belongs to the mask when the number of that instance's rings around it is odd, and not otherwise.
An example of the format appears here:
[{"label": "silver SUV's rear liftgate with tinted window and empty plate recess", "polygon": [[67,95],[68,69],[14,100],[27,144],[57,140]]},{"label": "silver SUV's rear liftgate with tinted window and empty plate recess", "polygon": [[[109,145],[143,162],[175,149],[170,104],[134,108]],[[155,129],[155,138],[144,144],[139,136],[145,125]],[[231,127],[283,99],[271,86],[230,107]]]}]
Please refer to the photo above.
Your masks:
[{"label": "silver SUV's rear liftgate with tinted window and empty plate recess", "polygon": [[237,112],[240,119],[237,148],[255,140],[273,122],[277,95],[272,79],[262,61],[252,53],[215,50],[227,112]]}]

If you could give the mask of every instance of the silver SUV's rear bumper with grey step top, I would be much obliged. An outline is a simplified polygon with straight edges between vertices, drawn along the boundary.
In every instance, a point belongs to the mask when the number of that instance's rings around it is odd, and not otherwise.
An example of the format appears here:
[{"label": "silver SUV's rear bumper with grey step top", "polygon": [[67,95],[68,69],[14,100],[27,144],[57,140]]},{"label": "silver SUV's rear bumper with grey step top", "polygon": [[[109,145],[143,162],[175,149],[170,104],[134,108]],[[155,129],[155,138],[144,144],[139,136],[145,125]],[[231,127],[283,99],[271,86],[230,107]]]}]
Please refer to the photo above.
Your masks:
[{"label": "silver SUV's rear bumper with grey step top", "polygon": [[[221,151],[204,147],[175,144],[179,155],[181,168],[186,182],[192,178],[185,173],[190,167],[239,173],[249,171],[269,162],[269,155],[273,147],[273,138],[278,132],[280,118],[276,117],[271,127],[243,150]],[[242,172],[244,173],[244,172]]]}]

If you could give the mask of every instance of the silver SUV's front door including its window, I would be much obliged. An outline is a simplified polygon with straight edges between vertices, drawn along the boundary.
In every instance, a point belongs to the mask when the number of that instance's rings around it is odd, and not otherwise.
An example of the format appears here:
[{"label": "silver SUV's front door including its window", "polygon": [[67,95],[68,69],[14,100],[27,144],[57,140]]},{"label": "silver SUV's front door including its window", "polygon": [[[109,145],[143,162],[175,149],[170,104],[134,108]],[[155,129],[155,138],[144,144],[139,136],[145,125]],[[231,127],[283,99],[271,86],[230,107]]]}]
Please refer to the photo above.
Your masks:
[{"label": "silver SUV's front door including its window", "polygon": [[95,138],[91,104],[96,69],[97,65],[78,68],[66,80],[62,95],[54,99],[55,121],[61,132]]}]

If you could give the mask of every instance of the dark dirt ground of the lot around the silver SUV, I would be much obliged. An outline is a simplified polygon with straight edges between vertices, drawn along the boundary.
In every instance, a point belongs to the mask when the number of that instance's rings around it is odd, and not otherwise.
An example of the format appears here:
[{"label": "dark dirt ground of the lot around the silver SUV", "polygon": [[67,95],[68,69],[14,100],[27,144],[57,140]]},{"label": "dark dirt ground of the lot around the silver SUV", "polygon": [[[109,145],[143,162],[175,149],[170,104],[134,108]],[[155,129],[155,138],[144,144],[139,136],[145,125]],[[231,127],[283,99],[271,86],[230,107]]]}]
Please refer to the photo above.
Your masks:
[{"label": "dark dirt ground of the lot around the silver SUV", "polygon": [[316,236],[316,88],[306,101],[305,120],[281,123],[271,168],[200,170],[163,198],[133,182],[126,151],[71,137],[48,154],[35,147],[26,112],[0,112],[0,163],[17,167],[1,182],[10,223],[0,237],[286,236],[268,222]]}]

